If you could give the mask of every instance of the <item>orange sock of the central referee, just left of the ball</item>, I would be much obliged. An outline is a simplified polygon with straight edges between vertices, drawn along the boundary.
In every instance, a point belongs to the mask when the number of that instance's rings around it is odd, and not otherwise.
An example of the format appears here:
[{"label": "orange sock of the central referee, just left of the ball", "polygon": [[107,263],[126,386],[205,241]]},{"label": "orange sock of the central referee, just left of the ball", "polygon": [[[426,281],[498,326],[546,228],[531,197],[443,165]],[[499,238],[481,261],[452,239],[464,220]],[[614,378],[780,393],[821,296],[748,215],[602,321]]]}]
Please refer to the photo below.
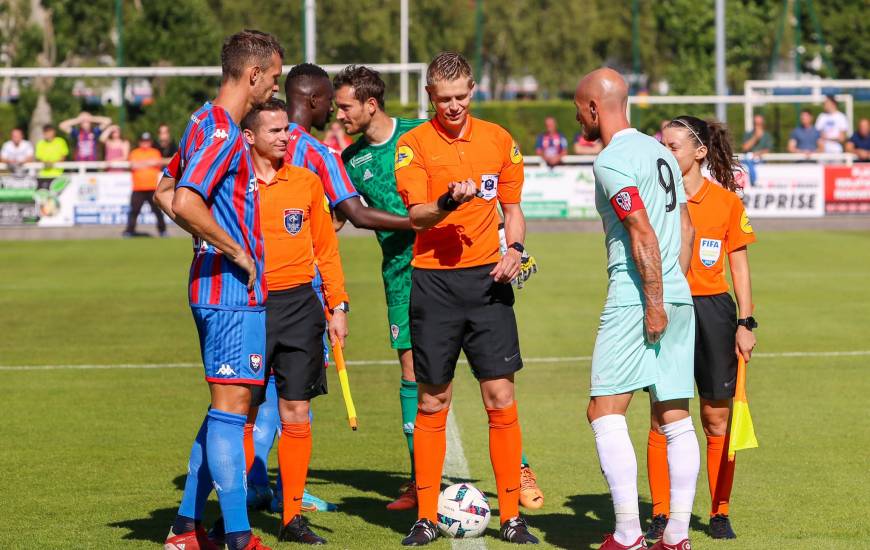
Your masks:
[{"label": "orange sock of the central referee, just left of the ball", "polygon": [[447,452],[445,429],[449,410],[449,407],[444,407],[436,413],[427,413],[417,409],[417,418],[414,420],[417,519],[438,520],[438,495],[441,493],[444,454]]}]

